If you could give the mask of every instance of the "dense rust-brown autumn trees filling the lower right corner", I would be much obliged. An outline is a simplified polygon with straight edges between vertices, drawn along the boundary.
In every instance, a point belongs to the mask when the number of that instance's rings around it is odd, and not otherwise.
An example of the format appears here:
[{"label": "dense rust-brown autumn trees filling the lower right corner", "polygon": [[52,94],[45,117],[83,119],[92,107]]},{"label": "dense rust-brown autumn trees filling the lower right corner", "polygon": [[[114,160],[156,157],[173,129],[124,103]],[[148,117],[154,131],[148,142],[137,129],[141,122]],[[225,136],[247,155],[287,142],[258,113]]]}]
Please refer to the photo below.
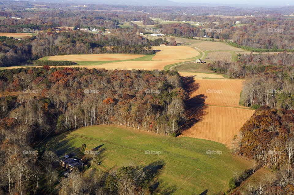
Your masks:
[{"label": "dense rust-brown autumn trees filling the lower right corner", "polygon": [[294,110],[260,107],[241,127],[233,141],[236,154],[266,166],[273,173],[237,190],[235,195],[294,193]]}]

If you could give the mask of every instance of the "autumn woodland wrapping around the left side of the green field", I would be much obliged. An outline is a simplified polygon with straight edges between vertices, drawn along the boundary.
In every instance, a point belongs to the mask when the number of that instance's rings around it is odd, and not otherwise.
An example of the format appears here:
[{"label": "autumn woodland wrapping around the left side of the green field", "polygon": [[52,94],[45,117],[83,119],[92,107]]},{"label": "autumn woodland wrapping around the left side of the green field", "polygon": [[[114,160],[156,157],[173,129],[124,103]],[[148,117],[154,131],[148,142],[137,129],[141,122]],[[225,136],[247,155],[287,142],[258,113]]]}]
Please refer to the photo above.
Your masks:
[{"label": "autumn woodland wrapping around the left side of the green field", "polygon": [[[48,65],[0,70],[0,192],[152,193],[156,169],[159,171],[163,162],[147,167],[126,165],[90,178],[74,171],[71,180],[61,181],[56,154],[34,151],[32,142],[98,124],[175,136],[186,119],[183,102],[187,93],[181,85],[178,73],[164,70],[107,71]],[[86,149],[83,146],[81,151]],[[90,164],[100,163],[99,156],[84,158]]]}]

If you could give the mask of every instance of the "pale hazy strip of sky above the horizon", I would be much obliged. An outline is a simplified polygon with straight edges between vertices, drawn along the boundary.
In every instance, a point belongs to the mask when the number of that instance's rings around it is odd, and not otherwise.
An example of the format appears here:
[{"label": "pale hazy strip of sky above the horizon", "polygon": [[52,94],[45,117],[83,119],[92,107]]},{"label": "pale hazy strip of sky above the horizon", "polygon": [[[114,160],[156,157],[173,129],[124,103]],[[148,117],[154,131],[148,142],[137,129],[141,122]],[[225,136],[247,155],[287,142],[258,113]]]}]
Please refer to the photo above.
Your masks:
[{"label": "pale hazy strip of sky above the horizon", "polygon": [[213,4],[227,4],[227,5],[262,5],[262,6],[294,6],[293,0],[171,0],[174,2],[191,2],[191,3],[213,3]]}]

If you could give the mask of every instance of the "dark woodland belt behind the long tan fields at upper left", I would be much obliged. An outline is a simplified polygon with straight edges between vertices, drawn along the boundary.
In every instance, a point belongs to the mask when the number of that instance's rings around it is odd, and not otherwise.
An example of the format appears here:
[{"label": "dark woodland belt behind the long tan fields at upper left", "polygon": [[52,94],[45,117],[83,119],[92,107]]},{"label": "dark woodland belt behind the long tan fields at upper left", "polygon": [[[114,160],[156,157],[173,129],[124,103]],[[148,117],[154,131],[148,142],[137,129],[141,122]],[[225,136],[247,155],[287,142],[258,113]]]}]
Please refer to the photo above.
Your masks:
[{"label": "dark woodland belt behind the long tan fields at upper left", "polygon": [[22,40],[0,37],[0,66],[33,64],[40,57],[62,54],[154,54],[151,46],[163,43],[168,44],[161,38],[153,41],[142,39],[127,29],[119,29],[111,35],[96,35],[77,30],[58,33],[50,29],[36,36],[26,36]]}]

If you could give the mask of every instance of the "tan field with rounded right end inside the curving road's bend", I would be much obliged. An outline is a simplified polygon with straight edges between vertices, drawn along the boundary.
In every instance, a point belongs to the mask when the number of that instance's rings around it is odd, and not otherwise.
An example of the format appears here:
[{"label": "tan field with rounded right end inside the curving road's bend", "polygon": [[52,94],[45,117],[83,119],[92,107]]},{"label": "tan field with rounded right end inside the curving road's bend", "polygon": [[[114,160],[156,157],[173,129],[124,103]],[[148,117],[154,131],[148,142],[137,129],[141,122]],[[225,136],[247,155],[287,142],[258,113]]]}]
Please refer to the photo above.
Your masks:
[{"label": "tan field with rounded right end inside the curving road's bend", "polygon": [[187,46],[153,46],[153,50],[160,50],[152,60],[182,60],[198,56],[200,53]]}]

